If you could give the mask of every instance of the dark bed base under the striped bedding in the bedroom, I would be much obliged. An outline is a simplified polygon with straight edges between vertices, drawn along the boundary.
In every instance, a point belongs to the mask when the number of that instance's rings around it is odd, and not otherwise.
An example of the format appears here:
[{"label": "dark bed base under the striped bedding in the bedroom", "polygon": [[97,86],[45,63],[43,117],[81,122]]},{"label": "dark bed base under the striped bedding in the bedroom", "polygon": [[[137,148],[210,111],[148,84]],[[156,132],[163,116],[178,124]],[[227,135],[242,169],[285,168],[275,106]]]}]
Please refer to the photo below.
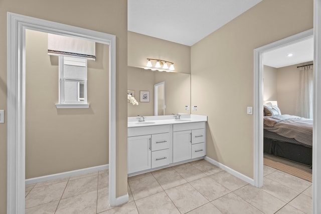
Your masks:
[{"label": "dark bed base under the striped bedding in the bedroom", "polygon": [[312,166],[312,147],[264,137],[263,151],[268,154]]}]

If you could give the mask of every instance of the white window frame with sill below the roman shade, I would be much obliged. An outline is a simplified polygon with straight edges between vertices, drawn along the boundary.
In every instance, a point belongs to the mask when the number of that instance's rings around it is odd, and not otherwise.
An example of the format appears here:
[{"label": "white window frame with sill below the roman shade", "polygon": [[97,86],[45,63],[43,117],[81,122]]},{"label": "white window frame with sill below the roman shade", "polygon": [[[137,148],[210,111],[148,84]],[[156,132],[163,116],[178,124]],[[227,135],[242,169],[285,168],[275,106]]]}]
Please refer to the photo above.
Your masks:
[{"label": "white window frame with sill below the roman shade", "polygon": [[[72,62],[72,66],[81,66],[85,67],[86,74],[85,78],[65,78],[64,77],[64,65],[65,60]],[[72,61],[70,61],[72,60]],[[78,62],[77,62],[78,61]],[[69,82],[77,82],[78,83],[78,101],[65,101],[65,81]],[[81,100],[79,97],[79,88],[80,82],[84,83],[84,98]],[[59,56],[59,103],[56,104],[57,108],[89,108],[89,104],[87,103],[87,59],[80,57],[67,57],[67,56]]]}]

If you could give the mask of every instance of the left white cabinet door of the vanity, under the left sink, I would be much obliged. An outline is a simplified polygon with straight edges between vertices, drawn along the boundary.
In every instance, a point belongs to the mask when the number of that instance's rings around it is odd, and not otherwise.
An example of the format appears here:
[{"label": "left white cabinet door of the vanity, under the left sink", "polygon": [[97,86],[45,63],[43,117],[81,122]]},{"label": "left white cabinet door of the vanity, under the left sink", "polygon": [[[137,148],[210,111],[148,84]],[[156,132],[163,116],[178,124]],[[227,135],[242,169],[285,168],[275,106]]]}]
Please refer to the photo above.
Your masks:
[{"label": "left white cabinet door of the vanity, under the left sink", "polygon": [[128,173],[137,172],[151,167],[151,136],[128,137],[127,141]]}]

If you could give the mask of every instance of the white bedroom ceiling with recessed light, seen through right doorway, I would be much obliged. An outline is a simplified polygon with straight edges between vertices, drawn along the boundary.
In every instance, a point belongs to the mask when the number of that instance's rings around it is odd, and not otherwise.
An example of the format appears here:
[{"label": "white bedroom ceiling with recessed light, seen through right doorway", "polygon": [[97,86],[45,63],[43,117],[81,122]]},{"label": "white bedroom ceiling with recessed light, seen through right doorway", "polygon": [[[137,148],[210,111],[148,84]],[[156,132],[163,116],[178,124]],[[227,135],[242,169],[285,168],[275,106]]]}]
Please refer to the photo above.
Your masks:
[{"label": "white bedroom ceiling with recessed light, seen through right doorway", "polygon": [[[292,53],[292,57],[287,54]],[[274,68],[313,61],[313,38],[263,54],[263,64]]]}]

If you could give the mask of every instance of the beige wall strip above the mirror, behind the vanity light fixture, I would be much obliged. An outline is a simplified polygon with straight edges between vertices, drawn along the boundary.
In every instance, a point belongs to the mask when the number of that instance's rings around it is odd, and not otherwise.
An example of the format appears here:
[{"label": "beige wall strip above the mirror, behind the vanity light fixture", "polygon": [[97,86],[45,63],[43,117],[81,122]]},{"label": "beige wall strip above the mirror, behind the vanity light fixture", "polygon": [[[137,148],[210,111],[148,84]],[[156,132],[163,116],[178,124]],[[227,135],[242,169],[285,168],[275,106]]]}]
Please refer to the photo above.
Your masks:
[{"label": "beige wall strip above the mirror, behind the vanity light fixture", "polygon": [[128,66],[144,68],[146,58],[174,63],[175,72],[191,73],[191,48],[154,37],[128,32]]}]

